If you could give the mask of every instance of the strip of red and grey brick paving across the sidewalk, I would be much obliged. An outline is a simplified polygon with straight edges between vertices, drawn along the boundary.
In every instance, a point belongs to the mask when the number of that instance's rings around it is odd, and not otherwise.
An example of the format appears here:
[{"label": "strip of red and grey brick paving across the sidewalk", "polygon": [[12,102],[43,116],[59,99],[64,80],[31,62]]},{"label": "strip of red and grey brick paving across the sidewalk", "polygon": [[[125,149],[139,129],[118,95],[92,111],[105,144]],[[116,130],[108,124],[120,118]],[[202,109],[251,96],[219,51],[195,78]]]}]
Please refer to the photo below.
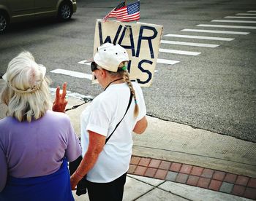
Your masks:
[{"label": "strip of red and grey brick paving across the sidewalk", "polygon": [[248,176],[138,156],[132,156],[128,173],[256,200],[256,178]]}]

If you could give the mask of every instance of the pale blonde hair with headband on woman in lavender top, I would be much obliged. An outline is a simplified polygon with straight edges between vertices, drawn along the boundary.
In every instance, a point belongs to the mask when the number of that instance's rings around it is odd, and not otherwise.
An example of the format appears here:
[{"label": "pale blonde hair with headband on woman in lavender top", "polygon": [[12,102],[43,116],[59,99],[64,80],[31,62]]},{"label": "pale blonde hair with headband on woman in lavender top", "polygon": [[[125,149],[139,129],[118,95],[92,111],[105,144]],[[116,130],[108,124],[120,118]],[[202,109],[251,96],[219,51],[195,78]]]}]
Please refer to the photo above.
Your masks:
[{"label": "pale blonde hair with headband on woman in lavender top", "polygon": [[6,85],[1,92],[1,102],[8,106],[7,116],[19,122],[31,122],[50,108],[50,81],[30,52],[21,52],[13,58],[4,76]]}]

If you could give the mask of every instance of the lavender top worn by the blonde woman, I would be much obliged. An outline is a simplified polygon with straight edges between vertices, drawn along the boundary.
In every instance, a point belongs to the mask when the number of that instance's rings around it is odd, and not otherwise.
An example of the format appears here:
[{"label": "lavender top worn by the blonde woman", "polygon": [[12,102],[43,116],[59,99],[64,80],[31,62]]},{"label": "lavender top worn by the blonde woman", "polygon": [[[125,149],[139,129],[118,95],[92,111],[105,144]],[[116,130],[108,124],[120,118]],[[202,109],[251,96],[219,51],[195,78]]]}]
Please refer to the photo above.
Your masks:
[{"label": "lavender top worn by the blonde woman", "polygon": [[66,114],[47,111],[32,122],[13,117],[0,120],[0,192],[7,175],[46,176],[59,170],[62,158],[77,159],[81,147]]}]

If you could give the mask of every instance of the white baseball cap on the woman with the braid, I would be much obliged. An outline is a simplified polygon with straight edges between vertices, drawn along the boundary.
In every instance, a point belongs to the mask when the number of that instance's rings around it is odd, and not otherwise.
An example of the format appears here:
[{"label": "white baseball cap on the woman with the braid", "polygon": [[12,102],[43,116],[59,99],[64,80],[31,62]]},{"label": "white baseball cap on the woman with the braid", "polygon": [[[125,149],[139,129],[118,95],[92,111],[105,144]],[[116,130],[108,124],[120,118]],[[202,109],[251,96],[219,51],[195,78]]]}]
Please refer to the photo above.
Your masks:
[{"label": "white baseball cap on the woman with the braid", "polygon": [[119,44],[105,43],[97,48],[93,60],[105,70],[117,72],[121,62],[129,61],[129,55]]}]

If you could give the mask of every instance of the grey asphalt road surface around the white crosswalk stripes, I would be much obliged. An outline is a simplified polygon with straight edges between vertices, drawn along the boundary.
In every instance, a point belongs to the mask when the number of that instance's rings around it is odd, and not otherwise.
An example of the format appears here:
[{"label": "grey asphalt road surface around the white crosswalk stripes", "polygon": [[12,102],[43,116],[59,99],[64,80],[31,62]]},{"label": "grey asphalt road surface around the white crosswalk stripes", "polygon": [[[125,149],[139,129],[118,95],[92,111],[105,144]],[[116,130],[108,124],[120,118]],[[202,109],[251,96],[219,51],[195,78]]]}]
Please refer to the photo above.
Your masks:
[{"label": "grey asphalt road surface around the white crosswalk stripes", "polygon": [[[78,0],[78,12],[67,23],[47,19],[12,25],[7,33],[0,36],[0,74],[4,74],[8,62],[15,55],[28,50],[34,54],[38,63],[48,68],[47,75],[53,81],[51,87],[67,81],[68,90],[72,92],[93,97],[98,95],[100,87],[92,85],[88,79],[53,74],[50,71],[61,68],[90,73],[88,66],[78,62],[92,57],[96,19],[104,17],[116,4],[118,1]],[[157,63],[151,87],[143,88],[147,114],[256,142],[256,30],[197,26],[210,24],[255,27],[255,23],[211,22],[256,21],[253,18],[226,18],[243,17],[246,15],[236,14],[253,10],[256,10],[255,0],[141,0],[140,22],[163,25],[163,40],[219,44],[215,48],[161,44],[162,49],[200,52],[200,55],[159,52],[159,58],[177,60],[179,63]],[[241,31],[249,34],[181,31],[185,28]],[[167,37],[166,34],[226,37],[234,40],[187,39]]]}]

